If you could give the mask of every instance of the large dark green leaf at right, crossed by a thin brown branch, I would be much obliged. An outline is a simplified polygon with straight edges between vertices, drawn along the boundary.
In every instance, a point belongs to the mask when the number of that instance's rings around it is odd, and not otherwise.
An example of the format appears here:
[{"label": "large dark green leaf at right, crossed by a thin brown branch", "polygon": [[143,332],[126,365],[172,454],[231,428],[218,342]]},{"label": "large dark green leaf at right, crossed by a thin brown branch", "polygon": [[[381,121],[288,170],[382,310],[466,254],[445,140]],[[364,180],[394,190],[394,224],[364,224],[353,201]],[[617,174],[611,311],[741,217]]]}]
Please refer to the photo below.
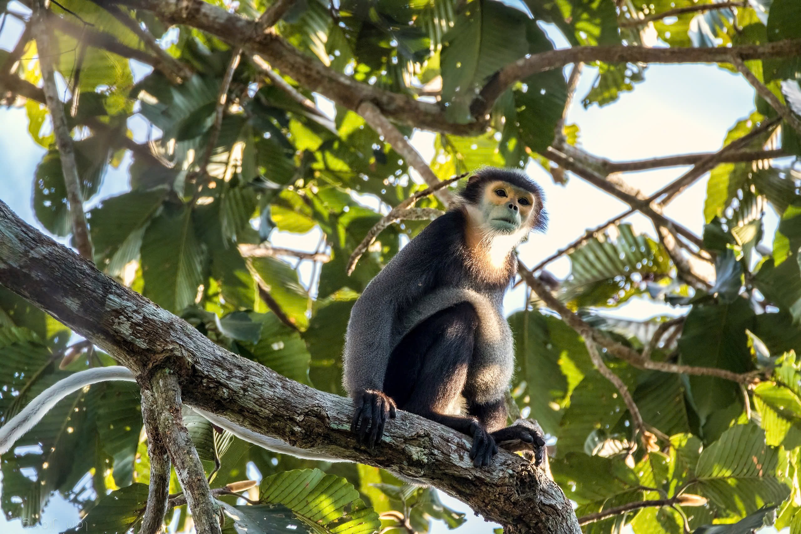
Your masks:
[{"label": "large dark green leaf at right, crossed by a thin brown branch", "polygon": [[[745,299],[731,304],[696,304],[687,315],[678,340],[682,363],[718,367],[735,372],[752,368],[746,329],[753,327],[754,311]],[[690,376],[690,394],[703,424],[707,416],[740,397],[736,383],[709,376]]]}]

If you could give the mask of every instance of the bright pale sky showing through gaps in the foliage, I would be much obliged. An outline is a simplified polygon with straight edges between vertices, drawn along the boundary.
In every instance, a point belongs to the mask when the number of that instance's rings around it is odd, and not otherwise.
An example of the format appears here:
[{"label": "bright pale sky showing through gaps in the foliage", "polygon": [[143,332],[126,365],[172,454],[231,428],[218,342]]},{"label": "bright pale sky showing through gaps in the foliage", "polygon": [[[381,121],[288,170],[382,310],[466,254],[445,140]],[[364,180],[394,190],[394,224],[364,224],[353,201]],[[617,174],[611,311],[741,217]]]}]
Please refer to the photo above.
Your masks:
[{"label": "bright pale sky showing through gaps in the foliage", "polygon": [[[14,2],[12,2],[14,3]],[[18,6],[18,11],[24,8]],[[0,48],[10,50],[21,31],[14,19],[9,19],[0,34]],[[556,42],[564,46],[563,42]],[[135,66],[135,74],[147,74],[141,65]],[[618,102],[609,106],[591,106],[584,109],[582,99],[590,90],[595,70],[585,67],[579,82],[576,98],[570,107],[567,123],[578,124],[580,146],[591,154],[611,160],[648,159],[666,155],[680,155],[690,152],[717,151],[727,133],[739,119],[747,117],[754,110],[754,90],[739,75],[734,75],[717,66],[671,65],[649,66],[645,81],[635,86],[631,93],[622,94]],[[318,99],[321,109],[330,110],[323,98]],[[143,140],[143,121],[132,119],[129,126],[134,130],[135,139]],[[44,154],[30,138],[28,122],[24,109],[0,108],[0,199],[8,204],[22,219],[42,230],[34,219],[31,208],[32,177],[38,161]],[[424,159],[433,156],[434,135],[417,131],[413,135],[413,145]],[[99,200],[118,195],[129,189],[127,158],[119,169],[110,169],[103,179],[99,195],[87,203],[87,209]],[[646,194],[678,178],[687,167],[672,167],[658,171],[629,173],[624,176],[634,187]],[[549,211],[550,226],[545,234],[532,235],[520,247],[520,258],[532,267],[567,243],[583,235],[588,228],[596,227],[614,215],[625,211],[627,205],[598,190],[576,176],[570,175],[566,187],[553,183],[550,175],[536,164],[529,165],[530,175],[545,190],[545,207]],[[699,180],[666,208],[665,215],[701,234],[703,219],[702,207],[706,196],[706,178]],[[777,224],[777,217],[768,208],[765,219],[764,242],[770,244]],[[655,237],[653,226],[642,215],[632,215],[624,222],[632,223],[637,232],[646,232]],[[272,243],[280,247],[313,251],[319,233],[298,236],[285,232],[275,232]],[[558,278],[570,272],[570,262],[566,258],[550,264],[549,271]],[[309,282],[311,264],[300,266],[304,283]],[[523,306],[525,292],[523,287],[509,291],[506,297],[506,311],[512,312]],[[646,319],[653,315],[679,315],[681,309],[666,307],[646,299],[631,299],[610,315]],[[462,534],[491,532],[493,524],[485,523],[473,516],[468,508],[448,496],[443,496],[445,504],[468,512],[469,522],[459,529]],[[58,498],[46,508],[44,520],[46,528],[40,525],[36,532],[61,532],[65,522],[74,524],[77,515],[69,504]],[[53,520],[57,520],[54,525]],[[19,521],[6,522],[0,516],[0,531],[8,534],[22,534],[30,528],[22,528]],[[434,524],[433,532],[446,532],[443,524]]]}]

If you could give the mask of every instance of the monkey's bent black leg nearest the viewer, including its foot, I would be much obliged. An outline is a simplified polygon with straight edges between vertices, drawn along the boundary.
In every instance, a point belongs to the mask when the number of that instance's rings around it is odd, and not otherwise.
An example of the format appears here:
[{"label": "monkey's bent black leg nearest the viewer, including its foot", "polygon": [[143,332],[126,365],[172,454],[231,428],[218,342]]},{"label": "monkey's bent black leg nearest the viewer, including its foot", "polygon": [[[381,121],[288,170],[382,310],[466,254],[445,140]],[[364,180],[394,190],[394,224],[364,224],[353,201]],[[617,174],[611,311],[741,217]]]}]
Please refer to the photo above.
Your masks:
[{"label": "monkey's bent black leg nearest the viewer, including its foot", "polygon": [[473,436],[470,459],[479,467],[489,465],[497,452],[492,436],[476,417],[448,414],[465,389],[477,326],[469,303],[426,319],[392,351],[384,391],[400,409]]}]

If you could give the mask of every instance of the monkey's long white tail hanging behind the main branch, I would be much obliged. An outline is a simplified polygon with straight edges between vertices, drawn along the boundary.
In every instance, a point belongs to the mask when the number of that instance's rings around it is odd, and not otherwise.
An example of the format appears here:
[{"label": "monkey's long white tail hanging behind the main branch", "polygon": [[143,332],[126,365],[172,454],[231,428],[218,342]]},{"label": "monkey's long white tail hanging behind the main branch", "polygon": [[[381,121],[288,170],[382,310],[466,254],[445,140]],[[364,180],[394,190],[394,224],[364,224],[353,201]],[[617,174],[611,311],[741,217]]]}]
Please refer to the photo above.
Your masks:
[{"label": "monkey's long white tail hanging behind the main branch", "polygon": [[[59,380],[52,386],[42,391],[35,399],[30,401],[22,411],[16,416],[12,417],[10,421],[0,427],[0,454],[4,454],[14,446],[14,443],[21,438],[26,432],[34,425],[37,424],[47,412],[50,412],[59,400],[74,393],[83,387],[87,387],[93,383],[106,382],[108,380],[124,380],[126,382],[135,382],[134,374],[127,367],[112,366],[112,367],[95,367],[87,369],[86,371],[78,371],[73,375],[67,376],[65,379]],[[307,451],[305,449],[292,447],[292,445],[268,436],[262,436],[248,428],[244,428],[239,424],[235,424],[223,417],[216,416],[200,408],[192,407],[195,412],[205,417],[211,423],[220,428],[224,428],[249,443],[259,445],[273,452],[281,452],[298,458],[305,458],[308,460],[328,460],[333,462],[341,462],[343,460],[336,459],[322,453]]]}]

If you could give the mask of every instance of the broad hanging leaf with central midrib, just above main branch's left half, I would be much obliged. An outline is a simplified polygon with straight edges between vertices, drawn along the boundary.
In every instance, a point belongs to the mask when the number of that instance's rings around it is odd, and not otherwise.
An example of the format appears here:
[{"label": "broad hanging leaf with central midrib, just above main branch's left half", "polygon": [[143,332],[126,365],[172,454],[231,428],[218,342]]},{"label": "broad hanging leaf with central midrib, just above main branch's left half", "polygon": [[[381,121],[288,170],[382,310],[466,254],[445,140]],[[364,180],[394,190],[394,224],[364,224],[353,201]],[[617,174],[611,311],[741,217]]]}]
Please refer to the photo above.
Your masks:
[{"label": "broad hanging leaf with central midrib, just above main branch's left half", "polygon": [[145,296],[169,311],[195,302],[203,283],[206,252],[186,207],[151,220],[142,239]]}]

